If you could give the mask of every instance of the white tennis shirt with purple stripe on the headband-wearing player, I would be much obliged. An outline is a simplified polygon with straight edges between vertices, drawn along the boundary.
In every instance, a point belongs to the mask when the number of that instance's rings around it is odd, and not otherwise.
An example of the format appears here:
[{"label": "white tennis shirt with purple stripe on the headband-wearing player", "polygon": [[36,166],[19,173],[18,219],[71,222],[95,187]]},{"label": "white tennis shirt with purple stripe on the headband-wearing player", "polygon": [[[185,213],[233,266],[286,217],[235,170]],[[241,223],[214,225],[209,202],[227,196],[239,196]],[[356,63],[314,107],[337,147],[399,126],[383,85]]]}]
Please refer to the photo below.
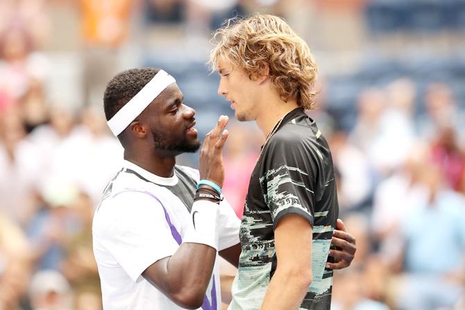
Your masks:
[{"label": "white tennis shirt with purple stripe on the headband-wearing player", "polygon": [[[175,166],[161,178],[125,161],[107,185],[92,224],[94,256],[99,267],[104,310],[183,309],[171,302],[142,272],[174,255],[187,227],[198,171]],[[219,217],[219,250],[239,243],[239,218],[223,200]],[[221,309],[218,261],[203,306]]]}]

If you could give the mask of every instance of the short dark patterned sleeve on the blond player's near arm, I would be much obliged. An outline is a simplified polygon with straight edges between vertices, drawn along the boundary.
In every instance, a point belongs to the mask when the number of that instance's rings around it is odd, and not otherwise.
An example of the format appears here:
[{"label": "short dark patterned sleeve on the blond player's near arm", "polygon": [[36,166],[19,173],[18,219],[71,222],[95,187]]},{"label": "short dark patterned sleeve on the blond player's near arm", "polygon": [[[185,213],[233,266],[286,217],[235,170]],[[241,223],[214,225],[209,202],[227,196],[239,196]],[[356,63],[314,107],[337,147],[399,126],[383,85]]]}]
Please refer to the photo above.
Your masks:
[{"label": "short dark patterned sleeve on the blond player's near arm", "polygon": [[260,186],[271,211],[273,228],[287,214],[303,216],[313,226],[317,173],[314,154],[298,130],[286,129],[271,137],[264,148]]}]

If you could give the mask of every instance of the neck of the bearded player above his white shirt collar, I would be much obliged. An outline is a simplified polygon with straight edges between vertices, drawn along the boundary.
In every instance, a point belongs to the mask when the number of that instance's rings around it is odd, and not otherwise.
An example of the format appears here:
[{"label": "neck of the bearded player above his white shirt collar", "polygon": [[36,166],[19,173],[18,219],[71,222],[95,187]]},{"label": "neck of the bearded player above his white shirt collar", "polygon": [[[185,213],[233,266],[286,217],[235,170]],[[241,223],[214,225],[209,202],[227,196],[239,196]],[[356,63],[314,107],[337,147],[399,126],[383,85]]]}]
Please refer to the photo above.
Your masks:
[{"label": "neck of the bearded player above his white shirt collar", "polygon": [[174,175],[176,157],[158,157],[147,153],[139,152],[134,155],[134,153],[124,150],[124,159],[162,178],[171,178]]}]

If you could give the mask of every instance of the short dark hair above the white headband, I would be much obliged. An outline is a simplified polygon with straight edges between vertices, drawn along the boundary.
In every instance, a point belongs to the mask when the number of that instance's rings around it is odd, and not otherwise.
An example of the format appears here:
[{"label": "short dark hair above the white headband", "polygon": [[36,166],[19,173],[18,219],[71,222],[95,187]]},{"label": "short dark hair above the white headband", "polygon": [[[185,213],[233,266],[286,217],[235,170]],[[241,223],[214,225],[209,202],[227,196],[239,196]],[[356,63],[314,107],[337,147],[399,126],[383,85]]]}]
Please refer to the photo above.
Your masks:
[{"label": "short dark hair above the white headband", "polygon": [[112,78],[103,94],[103,109],[107,121],[140,92],[158,71],[160,69],[156,68],[129,69]]}]

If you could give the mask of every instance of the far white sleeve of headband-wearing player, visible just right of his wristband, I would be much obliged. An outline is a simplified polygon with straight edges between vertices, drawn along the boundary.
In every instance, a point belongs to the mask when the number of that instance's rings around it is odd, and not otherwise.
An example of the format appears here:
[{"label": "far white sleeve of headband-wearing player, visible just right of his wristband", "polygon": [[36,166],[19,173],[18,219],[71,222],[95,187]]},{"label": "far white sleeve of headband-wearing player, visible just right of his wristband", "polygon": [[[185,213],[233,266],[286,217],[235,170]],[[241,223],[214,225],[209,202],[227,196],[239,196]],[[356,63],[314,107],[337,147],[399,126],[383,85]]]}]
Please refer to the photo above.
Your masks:
[{"label": "far white sleeve of headband-wearing player, visible just right of his wristband", "polygon": [[237,218],[233,207],[228,201],[223,200],[219,204],[219,247],[224,250],[239,243],[239,227],[241,220]]}]

